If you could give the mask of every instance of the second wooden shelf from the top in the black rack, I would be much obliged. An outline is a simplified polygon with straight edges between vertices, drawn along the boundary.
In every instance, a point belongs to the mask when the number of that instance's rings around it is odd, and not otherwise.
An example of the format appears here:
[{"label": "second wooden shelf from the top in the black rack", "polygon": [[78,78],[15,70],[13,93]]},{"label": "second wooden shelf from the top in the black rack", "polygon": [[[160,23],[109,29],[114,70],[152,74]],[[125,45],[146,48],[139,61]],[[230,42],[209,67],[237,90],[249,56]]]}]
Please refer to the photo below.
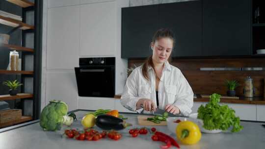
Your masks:
[{"label": "second wooden shelf from the top in the black rack", "polygon": [[1,16],[1,15],[0,15],[0,24],[12,26],[12,27],[17,27],[19,25],[22,25],[22,27],[20,27],[20,29],[24,29],[24,30],[34,29],[34,26],[32,26],[32,25],[28,25],[28,24],[25,24],[21,21],[7,18],[7,17]]}]

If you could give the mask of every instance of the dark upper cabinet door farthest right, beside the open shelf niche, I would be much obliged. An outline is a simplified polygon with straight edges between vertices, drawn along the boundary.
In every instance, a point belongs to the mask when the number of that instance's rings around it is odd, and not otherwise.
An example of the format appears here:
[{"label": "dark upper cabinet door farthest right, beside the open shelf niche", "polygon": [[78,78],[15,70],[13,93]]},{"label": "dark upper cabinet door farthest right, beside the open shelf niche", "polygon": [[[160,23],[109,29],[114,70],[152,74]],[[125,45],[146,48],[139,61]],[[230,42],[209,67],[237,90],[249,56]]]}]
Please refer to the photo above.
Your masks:
[{"label": "dark upper cabinet door farthest right, beside the open shelf niche", "polygon": [[203,0],[203,55],[250,55],[250,0]]}]

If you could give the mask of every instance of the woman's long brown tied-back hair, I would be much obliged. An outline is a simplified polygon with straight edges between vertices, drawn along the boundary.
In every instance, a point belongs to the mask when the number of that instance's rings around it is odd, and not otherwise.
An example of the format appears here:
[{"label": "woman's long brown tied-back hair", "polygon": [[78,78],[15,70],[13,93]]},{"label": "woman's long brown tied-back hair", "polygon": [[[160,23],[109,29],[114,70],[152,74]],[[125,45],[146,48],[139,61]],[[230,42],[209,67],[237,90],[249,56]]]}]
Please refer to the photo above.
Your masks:
[{"label": "woman's long brown tied-back hair", "polygon": [[[153,36],[153,39],[152,39],[152,43],[155,44],[155,42],[161,38],[169,38],[173,41],[173,48],[174,48],[174,45],[175,45],[175,39],[174,39],[174,34],[173,32],[168,29],[168,28],[161,28],[159,29],[158,31],[156,31],[156,33],[154,34]],[[172,49],[173,49],[172,48]],[[143,66],[142,66],[142,73],[143,73],[143,76],[149,80],[149,75],[147,73],[147,69],[148,69],[148,66],[151,66],[154,71],[155,71],[155,75],[156,75],[156,78],[160,80],[159,77],[157,77],[157,72],[155,70],[155,67],[154,67],[154,63],[153,63],[153,60],[152,60],[152,54],[146,59],[146,61],[144,62]],[[171,61],[171,54],[168,58],[168,61],[170,62]]]}]

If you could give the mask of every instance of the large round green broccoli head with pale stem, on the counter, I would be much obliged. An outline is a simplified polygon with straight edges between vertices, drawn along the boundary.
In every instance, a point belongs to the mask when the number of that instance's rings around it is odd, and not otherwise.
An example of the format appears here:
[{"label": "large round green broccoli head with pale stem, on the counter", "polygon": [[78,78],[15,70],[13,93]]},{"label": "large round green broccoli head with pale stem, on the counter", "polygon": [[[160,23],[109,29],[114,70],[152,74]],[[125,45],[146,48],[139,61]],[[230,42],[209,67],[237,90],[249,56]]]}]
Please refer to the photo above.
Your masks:
[{"label": "large round green broccoli head with pale stem, on the counter", "polygon": [[[68,106],[63,101],[52,100],[41,112],[40,126],[44,130],[60,130],[63,123],[73,123],[73,118],[67,116]],[[69,123],[72,122],[72,123]]]}]

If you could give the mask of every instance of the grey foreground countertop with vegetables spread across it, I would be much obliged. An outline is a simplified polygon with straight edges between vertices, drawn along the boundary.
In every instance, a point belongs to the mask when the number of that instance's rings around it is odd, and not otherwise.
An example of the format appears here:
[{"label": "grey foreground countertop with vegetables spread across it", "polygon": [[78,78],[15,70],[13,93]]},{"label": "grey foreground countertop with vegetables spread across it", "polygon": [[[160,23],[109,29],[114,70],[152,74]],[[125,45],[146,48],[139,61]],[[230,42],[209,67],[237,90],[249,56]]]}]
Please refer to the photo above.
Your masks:
[{"label": "grey foreground countertop with vegetables spread across it", "polygon": [[[72,128],[82,129],[80,120],[85,113],[87,111],[76,112],[79,120],[74,122]],[[129,118],[127,122],[133,124],[132,127],[142,127],[137,124],[138,115],[123,114],[123,116]],[[253,122],[241,122],[241,125],[244,129],[238,133],[203,133],[199,143],[180,144],[181,149],[265,149],[265,127],[261,123]],[[132,138],[128,133],[132,127],[120,131],[123,136],[119,141],[108,138],[100,141],[77,141],[61,137],[65,126],[60,131],[51,132],[43,131],[39,123],[35,123],[0,133],[0,149],[159,149],[163,144],[152,141],[151,135]],[[102,131],[97,126],[94,128]],[[156,128],[176,138],[166,126],[156,126]],[[171,147],[171,149],[176,148]]]}]

